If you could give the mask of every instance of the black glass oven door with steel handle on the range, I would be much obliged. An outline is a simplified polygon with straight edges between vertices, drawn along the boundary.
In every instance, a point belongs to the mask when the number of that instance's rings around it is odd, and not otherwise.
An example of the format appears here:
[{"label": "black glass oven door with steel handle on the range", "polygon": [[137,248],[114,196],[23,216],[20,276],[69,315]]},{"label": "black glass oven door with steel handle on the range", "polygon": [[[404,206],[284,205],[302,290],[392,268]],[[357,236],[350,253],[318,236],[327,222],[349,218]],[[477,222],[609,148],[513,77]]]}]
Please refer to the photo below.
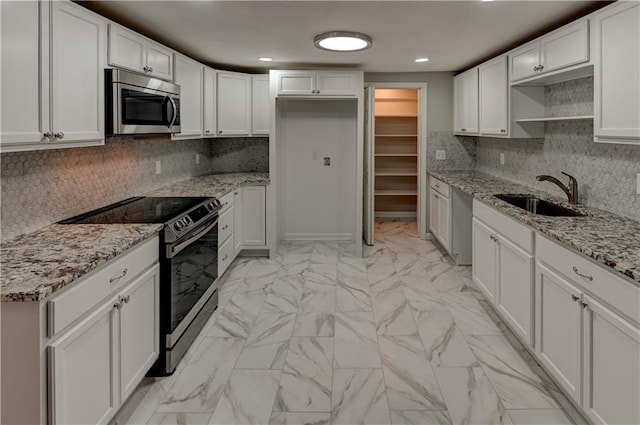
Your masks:
[{"label": "black glass oven door with steel handle on the range", "polygon": [[217,290],[218,217],[165,245],[161,303],[167,347],[172,347]]}]

